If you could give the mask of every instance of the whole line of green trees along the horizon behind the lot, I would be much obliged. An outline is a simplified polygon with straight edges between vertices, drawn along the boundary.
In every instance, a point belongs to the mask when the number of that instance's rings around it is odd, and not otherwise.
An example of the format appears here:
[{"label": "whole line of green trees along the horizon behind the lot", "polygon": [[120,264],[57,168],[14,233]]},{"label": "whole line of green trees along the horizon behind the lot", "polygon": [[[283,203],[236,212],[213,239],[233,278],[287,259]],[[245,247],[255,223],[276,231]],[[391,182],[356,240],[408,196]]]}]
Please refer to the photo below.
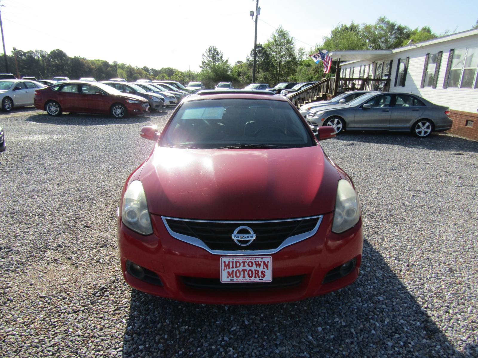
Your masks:
[{"label": "whole line of green trees along the horizon behind the lot", "polygon": [[[478,21],[473,26],[478,27]],[[446,32],[441,34],[445,35]],[[296,48],[295,40],[288,31],[279,26],[271,37],[256,47],[256,82],[275,85],[279,82],[308,82],[324,77],[323,66],[316,65],[308,54],[321,50],[386,50],[405,46],[410,42],[422,42],[438,35],[428,26],[411,29],[397,24],[386,17],[379,17],[374,24],[338,24],[325,36],[321,43],[307,52],[304,47]],[[37,78],[53,78],[66,76],[72,79],[94,77],[98,81],[114,77],[128,81],[137,79],[174,80],[182,84],[189,81],[204,82],[207,88],[218,82],[232,82],[236,88],[252,82],[254,49],[246,57],[246,61],[237,61],[234,65],[223,57],[216,46],[210,46],[203,53],[199,72],[180,71],[173,67],[154,69],[149,67],[133,67],[130,64],[109,63],[105,60],[88,60],[84,57],[69,57],[64,51],[56,49],[47,53],[43,50],[12,51],[7,55],[9,72],[20,76]],[[0,72],[6,72],[4,61],[0,61]],[[334,75],[332,68],[330,74]]]}]

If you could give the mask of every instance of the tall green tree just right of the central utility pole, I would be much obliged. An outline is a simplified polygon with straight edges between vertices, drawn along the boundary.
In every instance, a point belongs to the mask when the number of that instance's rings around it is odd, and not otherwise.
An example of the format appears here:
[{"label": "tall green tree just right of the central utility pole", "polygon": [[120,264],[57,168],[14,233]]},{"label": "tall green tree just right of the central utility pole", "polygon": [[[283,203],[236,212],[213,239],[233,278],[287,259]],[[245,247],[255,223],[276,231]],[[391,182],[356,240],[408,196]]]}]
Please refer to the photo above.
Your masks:
[{"label": "tall green tree just right of the central utility pole", "polygon": [[281,25],[264,44],[264,48],[270,58],[271,69],[269,74],[272,85],[286,81],[295,73],[298,61],[295,54],[294,40]]}]

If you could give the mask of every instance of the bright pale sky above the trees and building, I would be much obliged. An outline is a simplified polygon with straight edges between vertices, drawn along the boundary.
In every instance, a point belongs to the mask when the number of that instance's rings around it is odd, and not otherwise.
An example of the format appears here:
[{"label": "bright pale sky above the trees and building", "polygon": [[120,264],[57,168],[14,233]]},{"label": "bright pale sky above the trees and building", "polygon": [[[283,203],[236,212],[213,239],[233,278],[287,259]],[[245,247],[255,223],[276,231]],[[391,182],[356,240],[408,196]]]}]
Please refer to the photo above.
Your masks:
[{"label": "bright pale sky above the trees and building", "polygon": [[[70,57],[199,71],[209,46],[231,65],[245,61],[254,47],[250,11],[256,0],[0,0],[0,5],[7,54],[13,47],[60,49]],[[307,53],[340,23],[375,23],[386,16],[443,34],[469,30],[478,19],[476,0],[259,0],[259,7],[257,43],[282,25]]]}]

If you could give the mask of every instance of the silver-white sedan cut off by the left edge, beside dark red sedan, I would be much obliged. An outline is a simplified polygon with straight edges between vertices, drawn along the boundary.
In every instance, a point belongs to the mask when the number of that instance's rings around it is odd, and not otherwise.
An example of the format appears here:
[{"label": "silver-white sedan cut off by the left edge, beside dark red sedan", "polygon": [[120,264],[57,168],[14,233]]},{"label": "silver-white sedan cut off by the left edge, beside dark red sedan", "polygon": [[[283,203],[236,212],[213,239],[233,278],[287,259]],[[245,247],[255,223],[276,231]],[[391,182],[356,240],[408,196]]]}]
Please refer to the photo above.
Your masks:
[{"label": "silver-white sedan cut off by the left edge, beside dark red sedan", "polygon": [[10,112],[16,107],[33,105],[35,90],[45,87],[29,80],[0,80],[1,109]]}]

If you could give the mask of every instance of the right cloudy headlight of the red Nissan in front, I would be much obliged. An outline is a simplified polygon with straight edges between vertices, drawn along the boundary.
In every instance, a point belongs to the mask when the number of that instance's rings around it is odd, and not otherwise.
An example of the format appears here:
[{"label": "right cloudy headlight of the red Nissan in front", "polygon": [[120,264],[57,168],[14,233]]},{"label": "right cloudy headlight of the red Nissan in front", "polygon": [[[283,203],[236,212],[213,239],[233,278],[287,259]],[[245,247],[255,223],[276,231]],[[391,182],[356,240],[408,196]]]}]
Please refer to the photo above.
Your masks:
[{"label": "right cloudy headlight of the red Nissan in front", "polygon": [[344,232],[359,222],[359,219],[360,206],[357,193],[347,180],[340,179],[337,185],[332,232]]}]

